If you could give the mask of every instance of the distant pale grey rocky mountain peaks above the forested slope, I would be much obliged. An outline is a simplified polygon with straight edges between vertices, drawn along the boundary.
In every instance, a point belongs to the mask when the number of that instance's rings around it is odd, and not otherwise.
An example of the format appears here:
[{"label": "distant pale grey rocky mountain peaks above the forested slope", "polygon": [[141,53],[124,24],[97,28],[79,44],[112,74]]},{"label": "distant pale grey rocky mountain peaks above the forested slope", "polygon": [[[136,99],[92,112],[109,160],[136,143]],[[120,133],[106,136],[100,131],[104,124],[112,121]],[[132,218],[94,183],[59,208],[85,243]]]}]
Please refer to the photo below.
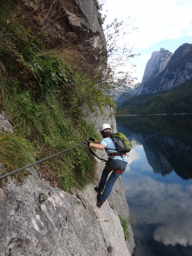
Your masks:
[{"label": "distant pale grey rocky mountain peaks above the forested slope", "polygon": [[173,54],[163,48],[148,60],[135,94],[157,94],[173,89],[192,77],[192,44],[181,45]]}]

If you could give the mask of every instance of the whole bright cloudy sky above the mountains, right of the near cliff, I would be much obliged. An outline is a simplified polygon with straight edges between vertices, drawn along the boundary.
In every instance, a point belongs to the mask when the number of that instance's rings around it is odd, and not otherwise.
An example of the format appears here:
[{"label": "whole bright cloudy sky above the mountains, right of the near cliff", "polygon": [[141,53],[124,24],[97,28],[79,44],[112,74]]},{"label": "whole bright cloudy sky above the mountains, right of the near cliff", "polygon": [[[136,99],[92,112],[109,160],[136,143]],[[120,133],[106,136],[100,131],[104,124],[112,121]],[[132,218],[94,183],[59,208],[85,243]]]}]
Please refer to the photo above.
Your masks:
[{"label": "whole bright cloudy sky above the mountains, right of the near cliff", "polygon": [[[160,48],[174,51],[182,44],[192,44],[192,0],[101,0],[103,28],[115,18],[131,23],[121,43],[128,42],[136,65],[134,75],[141,82],[147,61]],[[136,29],[134,29],[136,28]],[[134,29],[134,30],[132,30]],[[130,63],[127,65],[129,70]],[[131,69],[130,69],[131,70]]]}]

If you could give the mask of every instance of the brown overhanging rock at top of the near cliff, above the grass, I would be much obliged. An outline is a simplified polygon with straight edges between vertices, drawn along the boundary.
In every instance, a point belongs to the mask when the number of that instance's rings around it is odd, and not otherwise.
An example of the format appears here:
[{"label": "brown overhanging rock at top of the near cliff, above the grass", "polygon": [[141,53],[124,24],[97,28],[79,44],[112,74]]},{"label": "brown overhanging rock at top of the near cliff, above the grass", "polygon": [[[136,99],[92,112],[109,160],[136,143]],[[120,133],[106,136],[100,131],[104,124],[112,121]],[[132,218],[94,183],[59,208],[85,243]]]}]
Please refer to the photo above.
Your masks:
[{"label": "brown overhanging rock at top of the near cliff, above the grass", "polygon": [[[51,47],[82,46],[86,63],[106,54],[106,40],[94,0],[23,0],[27,16],[47,34]],[[34,19],[33,17],[39,17]]]}]

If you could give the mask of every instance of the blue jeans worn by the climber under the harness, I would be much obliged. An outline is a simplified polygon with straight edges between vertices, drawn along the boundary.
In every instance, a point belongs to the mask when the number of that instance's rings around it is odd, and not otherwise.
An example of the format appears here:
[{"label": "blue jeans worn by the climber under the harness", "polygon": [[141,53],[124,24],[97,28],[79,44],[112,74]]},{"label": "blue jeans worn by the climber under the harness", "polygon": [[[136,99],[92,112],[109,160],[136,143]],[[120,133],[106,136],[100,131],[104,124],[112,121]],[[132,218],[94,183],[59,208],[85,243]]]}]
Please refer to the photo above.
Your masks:
[{"label": "blue jeans worn by the climber under the harness", "polygon": [[[110,195],[113,185],[116,182],[117,178],[121,175],[120,173],[117,173],[115,169],[120,170],[121,172],[124,172],[127,162],[122,161],[122,160],[114,160],[113,158],[109,158],[107,161],[106,165],[109,167],[109,169],[113,170],[112,174],[110,175],[108,181],[108,175],[111,172],[108,170],[106,167],[103,169],[102,175],[101,175],[101,180],[99,182],[99,189],[104,191],[101,194],[101,201],[104,203],[105,200],[108,198]],[[105,186],[106,184],[106,186]]]}]

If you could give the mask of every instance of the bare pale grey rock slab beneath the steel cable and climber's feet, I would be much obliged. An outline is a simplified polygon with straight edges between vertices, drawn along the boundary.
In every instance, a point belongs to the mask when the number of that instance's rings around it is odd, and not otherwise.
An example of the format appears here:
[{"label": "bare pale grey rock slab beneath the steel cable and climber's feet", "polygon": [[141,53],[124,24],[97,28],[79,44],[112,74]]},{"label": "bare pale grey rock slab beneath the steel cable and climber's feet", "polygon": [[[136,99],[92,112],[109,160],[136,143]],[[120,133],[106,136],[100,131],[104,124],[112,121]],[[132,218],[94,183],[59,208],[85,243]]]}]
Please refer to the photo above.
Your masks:
[{"label": "bare pale grey rock slab beneath the steel cable and climber's feet", "polygon": [[[111,120],[110,124],[116,129],[115,120],[108,115],[110,111],[106,109],[104,116],[98,116],[95,122]],[[97,154],[106,157],[105,151]],[[72,195],[51,187],[34,168],[20,183],[11,176],[1,182],[0,256],[104,256],[110,251],[114,256],[132,255],[135,246],[132,228],[129,226],[131,237],[125,242],[118,218],[118,214],[130,218],[121,177],[114,184],[108,201],[101,208],[96,205],[94,187],[104,166],[98,160],[94,184],[89,184],[84,191],[74,190]],[[44,195],[42,203],[40,195]]]}]

